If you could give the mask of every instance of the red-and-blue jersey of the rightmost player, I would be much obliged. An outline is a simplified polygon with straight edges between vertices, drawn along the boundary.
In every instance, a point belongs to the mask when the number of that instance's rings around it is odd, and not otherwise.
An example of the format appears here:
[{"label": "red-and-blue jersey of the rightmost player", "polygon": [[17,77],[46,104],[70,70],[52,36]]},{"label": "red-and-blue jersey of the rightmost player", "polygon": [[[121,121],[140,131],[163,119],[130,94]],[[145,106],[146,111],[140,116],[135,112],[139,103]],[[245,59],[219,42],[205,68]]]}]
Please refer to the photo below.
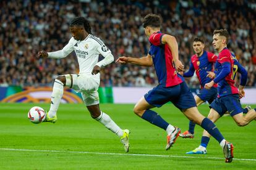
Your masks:
[{"label": "red-and-blue jersey of the rightmost player", "polygon": [[228,48],[224,48],[218,55],[218,59],[215,64],[216,77],[220,75],[222,70],[222,65],[224,63],[227,62],[231,65],[229,74],[218,82],[218,97],[222,97],[224,95],[229,95],[229,94],[238,94],[238,89],[237,87],[234,86],[234,78],[236,76],[236,71],[234,71],[233,69],[234,68],[233,59],[234,57],[231,55],[231,52],[228,50]]}]

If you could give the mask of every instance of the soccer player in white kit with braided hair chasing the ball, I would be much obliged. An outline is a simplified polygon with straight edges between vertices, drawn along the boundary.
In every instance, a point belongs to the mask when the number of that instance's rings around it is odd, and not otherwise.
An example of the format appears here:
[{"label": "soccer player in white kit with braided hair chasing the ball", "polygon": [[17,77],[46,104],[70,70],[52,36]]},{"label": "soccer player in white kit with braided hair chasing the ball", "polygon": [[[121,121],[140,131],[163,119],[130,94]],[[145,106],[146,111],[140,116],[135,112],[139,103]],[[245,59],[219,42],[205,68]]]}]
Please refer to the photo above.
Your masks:
[{"label": "soccer player in white kit with braided hair chasing the ball", "polygon": [[[105,44],[92,34],[90,23],[84,17],[76,17],[70,23],[72,38],[69,43],[60,51],[38,52],[39,58],[61,59],[67,57],[70,52],[75,51],[79,62],[79,74],[69,74],[58,76],[53,85],[51,94],[51,108],[46,113],[46,122],[55,123],[57,121],[56,112],[61,102],[64,86],[70,87],[82,93],[83,102],[90,111],[93,119],[102,123],[110,131],[121,138],[124,150],[129,151],[129,130],[122,130],[103,111],[100,110],[100,100],[98,87],[100,85],[100,69],[114,61],[111,51]],[[105,59],[98,62],[99,54]]]}]

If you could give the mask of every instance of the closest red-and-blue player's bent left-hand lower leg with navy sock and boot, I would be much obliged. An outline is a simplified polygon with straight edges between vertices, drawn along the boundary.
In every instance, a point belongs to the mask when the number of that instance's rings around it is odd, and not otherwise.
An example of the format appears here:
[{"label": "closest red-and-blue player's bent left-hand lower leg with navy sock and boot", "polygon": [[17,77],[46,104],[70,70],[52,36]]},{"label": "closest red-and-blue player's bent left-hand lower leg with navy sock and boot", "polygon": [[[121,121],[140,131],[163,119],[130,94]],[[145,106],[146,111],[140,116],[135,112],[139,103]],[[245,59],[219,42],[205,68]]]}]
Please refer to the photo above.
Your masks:
[{"label": "closest red-and-blue player's bent left-hand lower leg with navy sock and boot", "polygon": [[167,123],[160,115],[158,115],[155,111],[150,110],[150,108],[154,108],[154,106],[150,105],[144,97],[142,97],[139,102],[134,107],[134,113],[151,124],[155,124],[167,132],[167,144],[166,150],[168,150],[176,141],[181,129],[178,127],[174,127],[171,124]]}]

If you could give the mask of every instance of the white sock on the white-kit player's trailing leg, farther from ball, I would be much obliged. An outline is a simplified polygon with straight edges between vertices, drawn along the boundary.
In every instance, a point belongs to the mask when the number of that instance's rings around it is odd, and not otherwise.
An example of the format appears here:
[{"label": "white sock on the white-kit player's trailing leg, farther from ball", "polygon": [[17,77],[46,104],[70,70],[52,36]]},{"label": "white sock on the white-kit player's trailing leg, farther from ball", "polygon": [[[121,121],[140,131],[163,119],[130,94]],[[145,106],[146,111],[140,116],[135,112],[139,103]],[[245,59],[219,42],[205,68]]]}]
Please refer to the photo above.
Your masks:
[{"label": "white sock on the white-kit player's trailing leg, farther from ball", "polygon": [[122,137],[124,135],[122,129],[119,126],[117,126],[117,124],[114,123],[114,121],[106,113],[103,113],[103,111],[101,111],[101,115],[98,116],[98,118],[96,118],[96,121],[99,121],[110,131],[117,134],[117,136]]}]

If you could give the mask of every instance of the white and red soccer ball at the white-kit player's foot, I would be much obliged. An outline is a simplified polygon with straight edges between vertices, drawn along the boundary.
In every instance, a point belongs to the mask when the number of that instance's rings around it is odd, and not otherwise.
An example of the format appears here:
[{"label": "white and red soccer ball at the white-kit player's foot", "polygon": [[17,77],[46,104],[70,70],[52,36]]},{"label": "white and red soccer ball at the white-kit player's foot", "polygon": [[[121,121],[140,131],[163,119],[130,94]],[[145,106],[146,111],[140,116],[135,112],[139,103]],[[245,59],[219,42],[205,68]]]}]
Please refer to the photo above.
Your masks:
[{"label": "white and red soccer ball at the white-kit player's foot", "polygon": [[41,123],[45,120],[45,110],[41,107],[32,107],[28,111],[28,119],[35,124]]}]

